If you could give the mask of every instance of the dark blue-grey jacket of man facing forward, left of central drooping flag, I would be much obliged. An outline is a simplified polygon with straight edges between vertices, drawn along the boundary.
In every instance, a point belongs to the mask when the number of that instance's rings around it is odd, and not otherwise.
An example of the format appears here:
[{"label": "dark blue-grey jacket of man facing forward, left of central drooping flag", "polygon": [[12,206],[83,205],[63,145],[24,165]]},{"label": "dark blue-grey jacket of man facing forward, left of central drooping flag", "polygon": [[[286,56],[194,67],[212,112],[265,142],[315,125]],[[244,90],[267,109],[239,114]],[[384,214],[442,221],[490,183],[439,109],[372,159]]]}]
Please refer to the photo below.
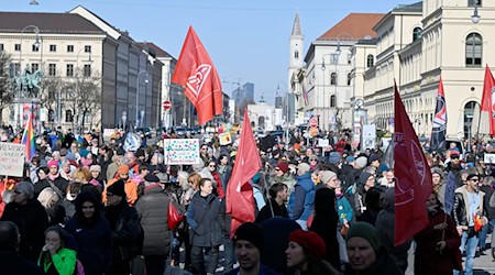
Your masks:
[{"label": "dark blue-grey jacket of man facing forward, left of central drooping flag", "polygon": [[210,194],[201,197],[200,191],[195,194],[187,209],[187,222],[194,232],[193,245],[211,248],[222,244],[219,210],[217,196]]}]

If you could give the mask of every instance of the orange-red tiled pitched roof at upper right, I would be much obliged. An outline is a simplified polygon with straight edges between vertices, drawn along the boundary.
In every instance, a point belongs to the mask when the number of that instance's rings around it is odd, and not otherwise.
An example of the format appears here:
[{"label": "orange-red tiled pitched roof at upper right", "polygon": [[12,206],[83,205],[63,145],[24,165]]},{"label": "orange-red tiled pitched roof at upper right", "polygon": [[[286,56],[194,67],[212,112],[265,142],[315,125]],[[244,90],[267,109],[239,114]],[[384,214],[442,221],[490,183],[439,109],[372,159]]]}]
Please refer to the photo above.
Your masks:
[{"label": "orange-red tiled pitched roof at upper right", "polygon": [[339,23],[323,33],[317,41],[328,40],[363,40],[366,35],[376,37],[373,26],[378,23],[384,13],[350,13]]}]

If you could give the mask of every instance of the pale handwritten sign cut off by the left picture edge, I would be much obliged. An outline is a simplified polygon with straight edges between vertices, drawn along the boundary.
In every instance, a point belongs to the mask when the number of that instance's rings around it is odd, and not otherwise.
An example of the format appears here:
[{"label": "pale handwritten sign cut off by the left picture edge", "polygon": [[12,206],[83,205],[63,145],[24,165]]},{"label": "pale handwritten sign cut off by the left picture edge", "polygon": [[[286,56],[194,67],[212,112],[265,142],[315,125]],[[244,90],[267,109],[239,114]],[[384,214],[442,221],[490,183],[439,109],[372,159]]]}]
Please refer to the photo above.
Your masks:
[{"label": "pale handwritten sign cut off by the left picture edge", "polygon": [[22,177],[25,145],[0,142],[0,175]]}]

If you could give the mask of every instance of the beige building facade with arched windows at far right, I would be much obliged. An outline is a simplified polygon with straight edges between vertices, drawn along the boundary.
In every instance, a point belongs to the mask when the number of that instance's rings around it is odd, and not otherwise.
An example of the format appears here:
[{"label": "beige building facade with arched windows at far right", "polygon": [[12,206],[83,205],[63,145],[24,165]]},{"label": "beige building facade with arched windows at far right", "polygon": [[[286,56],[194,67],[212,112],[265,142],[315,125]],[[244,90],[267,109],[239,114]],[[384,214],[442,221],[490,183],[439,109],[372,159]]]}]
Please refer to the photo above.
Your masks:
[{"label": "beige building facade with arched windows at far right", "polygon": [[[429,138],[441,77],[447,135],[468,139],[485,131],[479,110],[485,64],[495,63],[495,53],[490,51],[494,47],[495,3],[480,2],[480,21],[474,23],[473,1],[425,0],[397,7],[375,25],[376,62],[364,72],[363,87],[354,86],[354,95],[363,95],[369,121],[384,131],[394,130],[395,79],[416,132]],[[364,48],[358,43],[355,59],[363,57]],[[354,82],[359,81],[355,75]]]}]

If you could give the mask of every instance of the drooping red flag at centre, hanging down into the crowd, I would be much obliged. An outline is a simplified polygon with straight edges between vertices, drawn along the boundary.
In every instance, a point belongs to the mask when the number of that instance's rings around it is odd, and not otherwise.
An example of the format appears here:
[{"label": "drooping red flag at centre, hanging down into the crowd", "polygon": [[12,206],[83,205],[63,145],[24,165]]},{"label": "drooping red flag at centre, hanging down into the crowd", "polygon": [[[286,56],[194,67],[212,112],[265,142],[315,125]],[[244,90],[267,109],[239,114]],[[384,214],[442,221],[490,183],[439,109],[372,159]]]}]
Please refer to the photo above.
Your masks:
[{"label": "drooping red flag at centre, hanging down into the crowd", "polygon": [[235,156],[232,176],[227,187],[227,213],[232,216],[231,238],[243,222],[253,222],[255,219],[253,187],[249,180],[260,169],[260,154],[256,150],[256,142],[254,141],[248,111],[244,110],[241,141],[238,155]]}]

